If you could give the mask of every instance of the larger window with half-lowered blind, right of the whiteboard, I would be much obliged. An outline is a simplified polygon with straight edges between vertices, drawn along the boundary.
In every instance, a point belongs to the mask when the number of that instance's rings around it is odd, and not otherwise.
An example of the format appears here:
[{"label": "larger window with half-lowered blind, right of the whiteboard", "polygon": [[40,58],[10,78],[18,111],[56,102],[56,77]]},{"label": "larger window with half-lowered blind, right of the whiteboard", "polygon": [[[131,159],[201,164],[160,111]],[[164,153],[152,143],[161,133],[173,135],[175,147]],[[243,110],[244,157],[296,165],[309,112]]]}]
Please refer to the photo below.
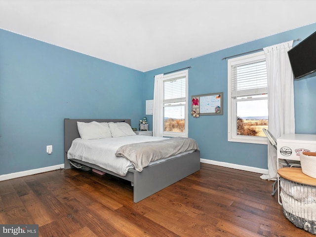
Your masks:
[{"label": "larger window with half-lowered blind, right of the whiteboard", "polygon": [[264,52],[228,60],[228,141],[267,144],[267,83]]}]

